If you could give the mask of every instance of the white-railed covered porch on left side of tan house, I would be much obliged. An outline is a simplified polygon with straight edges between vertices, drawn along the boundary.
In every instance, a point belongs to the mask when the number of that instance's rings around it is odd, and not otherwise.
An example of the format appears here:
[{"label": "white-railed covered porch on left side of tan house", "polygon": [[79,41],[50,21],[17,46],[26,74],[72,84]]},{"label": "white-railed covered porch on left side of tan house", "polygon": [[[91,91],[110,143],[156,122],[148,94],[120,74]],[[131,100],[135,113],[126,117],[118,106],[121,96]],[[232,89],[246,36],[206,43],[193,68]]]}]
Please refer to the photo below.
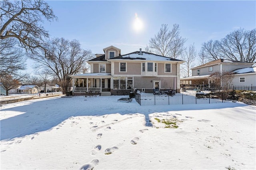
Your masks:
[{"label": "white-railed covered porch on left side of tan house", "polygon": [[110,73],[86,73],[72,75],[72,91],[74,95],[100,93],[110,95]]}]

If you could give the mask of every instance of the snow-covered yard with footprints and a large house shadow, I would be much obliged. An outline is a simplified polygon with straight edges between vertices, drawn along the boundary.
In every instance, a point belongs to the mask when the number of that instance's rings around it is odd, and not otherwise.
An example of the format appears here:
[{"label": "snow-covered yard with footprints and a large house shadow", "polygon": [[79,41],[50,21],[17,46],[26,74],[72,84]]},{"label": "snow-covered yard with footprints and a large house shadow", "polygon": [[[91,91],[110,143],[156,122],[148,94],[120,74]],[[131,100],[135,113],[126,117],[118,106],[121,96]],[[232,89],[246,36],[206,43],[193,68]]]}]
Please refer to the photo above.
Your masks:
[{"label": "snow-covered yard with footprints and a large house shadow", "polygon": [[[1,169],[256,169],[255,106],[140,106],[120,97],[2,106]],[[171,121],[178,128],[164,128]]]}]

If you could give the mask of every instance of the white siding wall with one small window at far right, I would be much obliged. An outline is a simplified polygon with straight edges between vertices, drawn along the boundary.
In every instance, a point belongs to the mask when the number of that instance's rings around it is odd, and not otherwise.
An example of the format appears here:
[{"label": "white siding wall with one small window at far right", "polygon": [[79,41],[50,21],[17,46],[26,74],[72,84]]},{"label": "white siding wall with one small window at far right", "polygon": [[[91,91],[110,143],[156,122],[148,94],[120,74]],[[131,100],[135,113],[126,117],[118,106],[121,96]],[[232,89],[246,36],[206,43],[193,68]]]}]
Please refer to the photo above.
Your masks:
[{"label": "white siding wall with one small window at far right", "polygon": [[[245,77],[245,82],[239,82],[239,77]],[[256,86],[256,73],[235,75],[232,85]]]}]

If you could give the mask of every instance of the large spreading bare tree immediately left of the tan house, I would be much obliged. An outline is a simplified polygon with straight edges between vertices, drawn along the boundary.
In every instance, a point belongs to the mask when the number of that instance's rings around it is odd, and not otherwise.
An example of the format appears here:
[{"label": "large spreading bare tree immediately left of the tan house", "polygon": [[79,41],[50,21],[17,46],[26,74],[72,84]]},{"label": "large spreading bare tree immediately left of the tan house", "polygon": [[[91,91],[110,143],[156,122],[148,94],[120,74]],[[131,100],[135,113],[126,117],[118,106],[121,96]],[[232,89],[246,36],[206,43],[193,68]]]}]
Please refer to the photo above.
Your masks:
[{"label": "large spreading bare tree immediately left of the tan house", "polygon": [[47,50],[40,50],[36,55],[29,57],[36,61],[38,66],[47,67],[58,77],[62,91],[66,94],[71,87],[70,75],[82,71],[82,66],[91,56],[90,50],[81,48],[78,40],[54,38],[48,43]]}]

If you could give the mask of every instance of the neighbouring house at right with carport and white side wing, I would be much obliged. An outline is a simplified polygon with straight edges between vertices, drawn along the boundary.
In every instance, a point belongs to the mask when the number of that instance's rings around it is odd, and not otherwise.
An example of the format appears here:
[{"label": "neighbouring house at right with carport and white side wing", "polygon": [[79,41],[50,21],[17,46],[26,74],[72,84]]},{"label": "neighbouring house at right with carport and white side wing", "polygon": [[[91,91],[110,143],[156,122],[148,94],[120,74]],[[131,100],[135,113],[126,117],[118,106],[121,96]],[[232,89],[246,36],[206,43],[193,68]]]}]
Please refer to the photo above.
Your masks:
[{"label": "neighbouring house at right with carport and white side wing", "polygon": [[256,86],[256,73],[254,63],[217,59],[192,68],[192,76],[180,79],[182,87],[196,88],[214,85],[210,75],[216,71],[229,71],[234,73],[233,86]]}]

